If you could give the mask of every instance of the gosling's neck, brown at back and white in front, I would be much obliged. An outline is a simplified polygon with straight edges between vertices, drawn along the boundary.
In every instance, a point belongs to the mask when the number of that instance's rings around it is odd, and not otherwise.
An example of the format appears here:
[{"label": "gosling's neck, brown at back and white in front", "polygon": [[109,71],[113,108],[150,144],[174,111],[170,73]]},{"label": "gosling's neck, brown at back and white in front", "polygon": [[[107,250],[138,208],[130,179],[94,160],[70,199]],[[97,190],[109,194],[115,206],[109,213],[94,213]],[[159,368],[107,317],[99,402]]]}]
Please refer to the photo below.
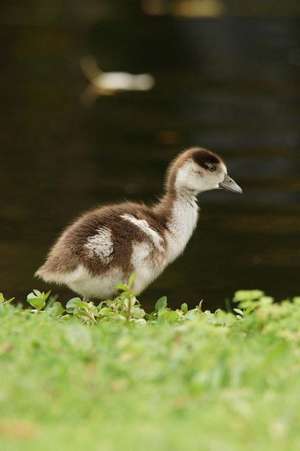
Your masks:
[{"label": "gosling's neck, brown at back and white in front", "polygon": [[169,262],[181,254],[198,220],[196,196],[191,192],[167,192],[155,207],[166,228]]}]

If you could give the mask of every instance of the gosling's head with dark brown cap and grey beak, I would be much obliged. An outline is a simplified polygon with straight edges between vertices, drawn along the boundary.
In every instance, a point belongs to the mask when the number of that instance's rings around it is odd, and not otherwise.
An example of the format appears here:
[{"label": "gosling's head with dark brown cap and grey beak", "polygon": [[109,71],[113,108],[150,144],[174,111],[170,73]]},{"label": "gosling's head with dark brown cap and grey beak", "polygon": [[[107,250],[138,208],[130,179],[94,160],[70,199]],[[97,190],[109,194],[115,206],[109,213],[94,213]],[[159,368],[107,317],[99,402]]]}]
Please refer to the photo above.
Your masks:
[{"label": "gosling's head with dark brown cap and grey beak", "polygon": [[242,188],[227,174],[222,158],[201,148],[186,150],[170,164],[166,187],[179,194],[197,195],[220,188],[242,193]]}]

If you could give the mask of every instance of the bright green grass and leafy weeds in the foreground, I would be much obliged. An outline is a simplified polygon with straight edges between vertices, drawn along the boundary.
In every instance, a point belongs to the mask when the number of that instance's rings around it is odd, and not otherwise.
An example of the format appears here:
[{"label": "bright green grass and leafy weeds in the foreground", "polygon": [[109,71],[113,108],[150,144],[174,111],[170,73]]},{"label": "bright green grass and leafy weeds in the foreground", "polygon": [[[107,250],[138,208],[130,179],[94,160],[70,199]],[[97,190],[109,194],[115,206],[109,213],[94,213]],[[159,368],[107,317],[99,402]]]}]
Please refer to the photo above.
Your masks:
[{"label": "bright green grass and leafy weeds in the foreground", "polygon": [[145,316],[128,287],[117,307],[47,297],[0,298],[1,450],[300,449],[300,298]]}]

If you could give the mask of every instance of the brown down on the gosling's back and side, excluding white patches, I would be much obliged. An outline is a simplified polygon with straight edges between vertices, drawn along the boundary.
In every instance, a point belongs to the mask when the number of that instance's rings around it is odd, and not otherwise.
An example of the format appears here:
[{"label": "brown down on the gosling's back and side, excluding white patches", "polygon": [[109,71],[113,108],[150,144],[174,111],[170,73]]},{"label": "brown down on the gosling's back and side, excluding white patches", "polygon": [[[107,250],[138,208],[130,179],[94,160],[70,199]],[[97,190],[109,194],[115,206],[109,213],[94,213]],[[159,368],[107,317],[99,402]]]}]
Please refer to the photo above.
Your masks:
[{"label": "brown down on the gosling's back and side, excluding white patches", "polygon": [[[78,218],[54,244],[46,263],[39,269],[38,275],[48,272],[68,272],[83,263],[93,275],[101,275],[107,270],[107,265],[101,259],[92,258],[84,247],[90,236],[98,229],[109,228],[112,232],[114,250],[110,268],[121,267],[127,275],[132,271],[130,262],[132,244],[134,242],[149,242],[150,239],[139,227],[128,223],[122,215],[130,214],[139,220],[146,220],[150,227],[158,233],[164,232],[164,218],[154,215],[152,210],[143,204],[125,202],[119,205],[107,205],[89,211]],[[161,217],[160,217],[161,216]]]}]

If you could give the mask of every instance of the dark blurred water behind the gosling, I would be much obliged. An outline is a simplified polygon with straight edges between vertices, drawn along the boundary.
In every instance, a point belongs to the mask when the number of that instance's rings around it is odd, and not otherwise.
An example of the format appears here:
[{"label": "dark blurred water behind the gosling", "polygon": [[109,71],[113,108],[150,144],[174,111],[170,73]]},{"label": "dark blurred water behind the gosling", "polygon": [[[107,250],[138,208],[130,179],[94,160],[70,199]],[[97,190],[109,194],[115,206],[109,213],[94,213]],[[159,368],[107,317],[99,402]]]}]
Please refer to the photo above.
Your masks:
[{"label": "dark blurred water behind the gosling", "polygon": [[[33,273],[67,223],[156,200],[170,159],[198,145],[245,194],[202,195],[184,256],[144,303],[300,294],[299,14],[298,0],[2,0],[1,291],[46,288]],[[96,66],[155,84],[101,87]]]}]

